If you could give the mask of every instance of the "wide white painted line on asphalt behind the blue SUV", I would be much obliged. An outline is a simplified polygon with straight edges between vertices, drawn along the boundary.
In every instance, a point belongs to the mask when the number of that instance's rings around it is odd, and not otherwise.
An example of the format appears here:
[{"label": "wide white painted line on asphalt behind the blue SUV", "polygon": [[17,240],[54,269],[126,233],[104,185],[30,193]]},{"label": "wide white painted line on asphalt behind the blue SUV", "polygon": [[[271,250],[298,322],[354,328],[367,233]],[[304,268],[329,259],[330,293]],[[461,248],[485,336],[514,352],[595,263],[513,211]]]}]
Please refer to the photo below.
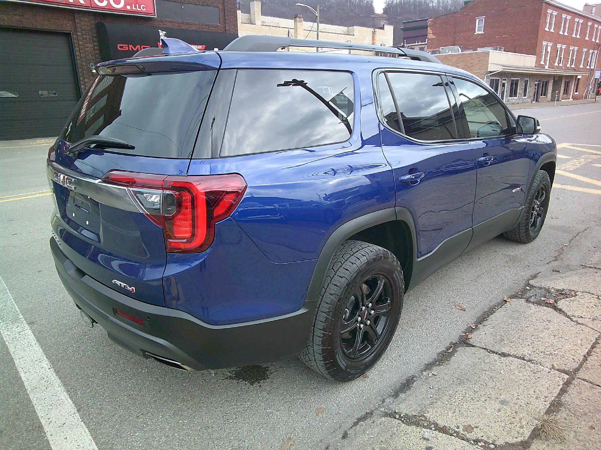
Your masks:
[{"label": "wide white painted line on asphalt behind the blue SUV", "polygon": [[25,323],[2,277],[0,333],[13,356],[52,450],[97,450],[90,431]]}]

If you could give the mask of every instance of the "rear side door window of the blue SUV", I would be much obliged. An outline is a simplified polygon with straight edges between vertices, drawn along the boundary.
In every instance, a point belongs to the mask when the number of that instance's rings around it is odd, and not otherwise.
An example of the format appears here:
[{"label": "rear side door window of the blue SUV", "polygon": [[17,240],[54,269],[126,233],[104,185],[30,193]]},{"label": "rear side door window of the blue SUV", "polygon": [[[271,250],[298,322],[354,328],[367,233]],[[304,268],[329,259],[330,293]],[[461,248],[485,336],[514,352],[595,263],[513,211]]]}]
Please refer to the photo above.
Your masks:
[{"label": "rear side door window of the blue SUV", "polygon": [[[388,78],[398,104],[401,133],[419,140],[456,139],[453,114],[440,76],[391,72]],[[384,109],[382,113],[387,121]]]}]

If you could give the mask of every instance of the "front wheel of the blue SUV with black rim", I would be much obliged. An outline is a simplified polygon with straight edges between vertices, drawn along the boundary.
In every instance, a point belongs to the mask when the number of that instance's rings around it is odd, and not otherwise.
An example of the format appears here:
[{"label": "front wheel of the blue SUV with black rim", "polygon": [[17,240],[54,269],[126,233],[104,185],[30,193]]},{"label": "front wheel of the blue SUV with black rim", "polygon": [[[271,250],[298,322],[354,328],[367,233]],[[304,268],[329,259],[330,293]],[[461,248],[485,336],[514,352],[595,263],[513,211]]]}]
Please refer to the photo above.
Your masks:
[{"label": "front wheel of the blue SUV with black rim", "polygon": [[[544,196],[541,199],[541,193]],[[511,241],[528,242],[534,241],[540,234],[545,224],[547,211],[549,210],[549,198],[551,197],[551,180],[545,170],[538,170],[532,188],[528,193],[528,199],[520,216],[520,220],[513,229],[503,233],[505,238]]]}]

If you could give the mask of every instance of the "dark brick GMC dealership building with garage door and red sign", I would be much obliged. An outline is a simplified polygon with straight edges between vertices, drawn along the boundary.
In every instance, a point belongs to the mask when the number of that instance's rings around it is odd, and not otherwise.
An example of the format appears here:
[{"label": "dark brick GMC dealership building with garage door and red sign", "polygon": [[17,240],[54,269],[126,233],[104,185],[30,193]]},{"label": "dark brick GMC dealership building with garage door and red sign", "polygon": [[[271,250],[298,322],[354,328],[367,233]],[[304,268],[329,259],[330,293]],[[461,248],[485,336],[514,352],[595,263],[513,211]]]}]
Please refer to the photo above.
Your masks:
[{"label": "dark brick GMC dealership building with garage door and red sign", "polygon": [[0,0],[0,140],[56,136],[93,64],[156,47],[159,32],[199,49],[237,37],[235,0]]}]

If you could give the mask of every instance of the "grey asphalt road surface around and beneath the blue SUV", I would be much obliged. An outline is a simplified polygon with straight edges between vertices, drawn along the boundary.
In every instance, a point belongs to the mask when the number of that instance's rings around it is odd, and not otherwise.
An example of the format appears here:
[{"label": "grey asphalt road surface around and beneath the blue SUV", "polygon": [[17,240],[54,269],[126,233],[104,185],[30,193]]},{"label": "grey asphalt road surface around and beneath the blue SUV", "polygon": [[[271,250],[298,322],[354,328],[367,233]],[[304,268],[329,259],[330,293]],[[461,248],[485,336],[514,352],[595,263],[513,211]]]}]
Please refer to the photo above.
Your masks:
[{"label": "grey asphalt road surface around and beneath the blue SUV", "polygon": [[[556,176],[555,184],[563,188],[552,191],[541,235],[529,245],[496,238],[416,287],[406,296],[386,355],[367,377],[345,384],[329,382],[296,360],[184,373],[130,354],[99,326],[87,328],[50,256],[52,197],[44,192],[44,161],[52,139],[0,142],[0,277],[90,432],[93,443],[82,448],[95,443],[99,449],[279,449],[291,437],[296,450],[340,439],[578,233],[601,225],[601,103],[523,113],[541,119],[543,132],[558,144],[576,146],[560,148],[566,158],[558,164],[572,161],[564,172],[577,177]],[[580,160],[583,155],[597,158]],[[582,245],[588,256],[586,242],[573,245]],[[8,292],[0,282],[2,302]],[[50,406],[65,398],[53,398],[55,391],[31,392],[31,386],[28,391],[15,362],[22,356],[11,355],[0,339],[0,448],[51,448],[42,426],[47,417],[38,418],[31,398]],[[318,408],[325,412],[318,415]],[[55,442],[54,448],[72,446]]]}]

